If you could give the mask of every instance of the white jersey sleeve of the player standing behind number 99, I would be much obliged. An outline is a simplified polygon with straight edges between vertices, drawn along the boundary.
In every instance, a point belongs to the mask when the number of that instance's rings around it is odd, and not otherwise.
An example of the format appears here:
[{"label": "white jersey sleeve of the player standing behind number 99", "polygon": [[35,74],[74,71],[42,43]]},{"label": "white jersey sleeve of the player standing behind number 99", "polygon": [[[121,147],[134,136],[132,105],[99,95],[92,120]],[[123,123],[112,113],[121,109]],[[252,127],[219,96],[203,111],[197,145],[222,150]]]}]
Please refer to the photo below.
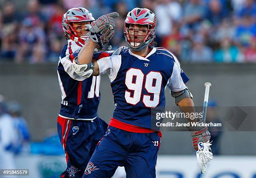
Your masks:
[{"label": "white jersey sleeve of the player standing behind number 99", "polygon": [[77,51],[82,47],[77,45],[73,40],[68,40],[66,55],[64,58],[59,58],[59,63],[64,67],[65,72],[74,80],[82,81],[85,78],[77,75],[73,70],[73,60],[78,54]]}]

